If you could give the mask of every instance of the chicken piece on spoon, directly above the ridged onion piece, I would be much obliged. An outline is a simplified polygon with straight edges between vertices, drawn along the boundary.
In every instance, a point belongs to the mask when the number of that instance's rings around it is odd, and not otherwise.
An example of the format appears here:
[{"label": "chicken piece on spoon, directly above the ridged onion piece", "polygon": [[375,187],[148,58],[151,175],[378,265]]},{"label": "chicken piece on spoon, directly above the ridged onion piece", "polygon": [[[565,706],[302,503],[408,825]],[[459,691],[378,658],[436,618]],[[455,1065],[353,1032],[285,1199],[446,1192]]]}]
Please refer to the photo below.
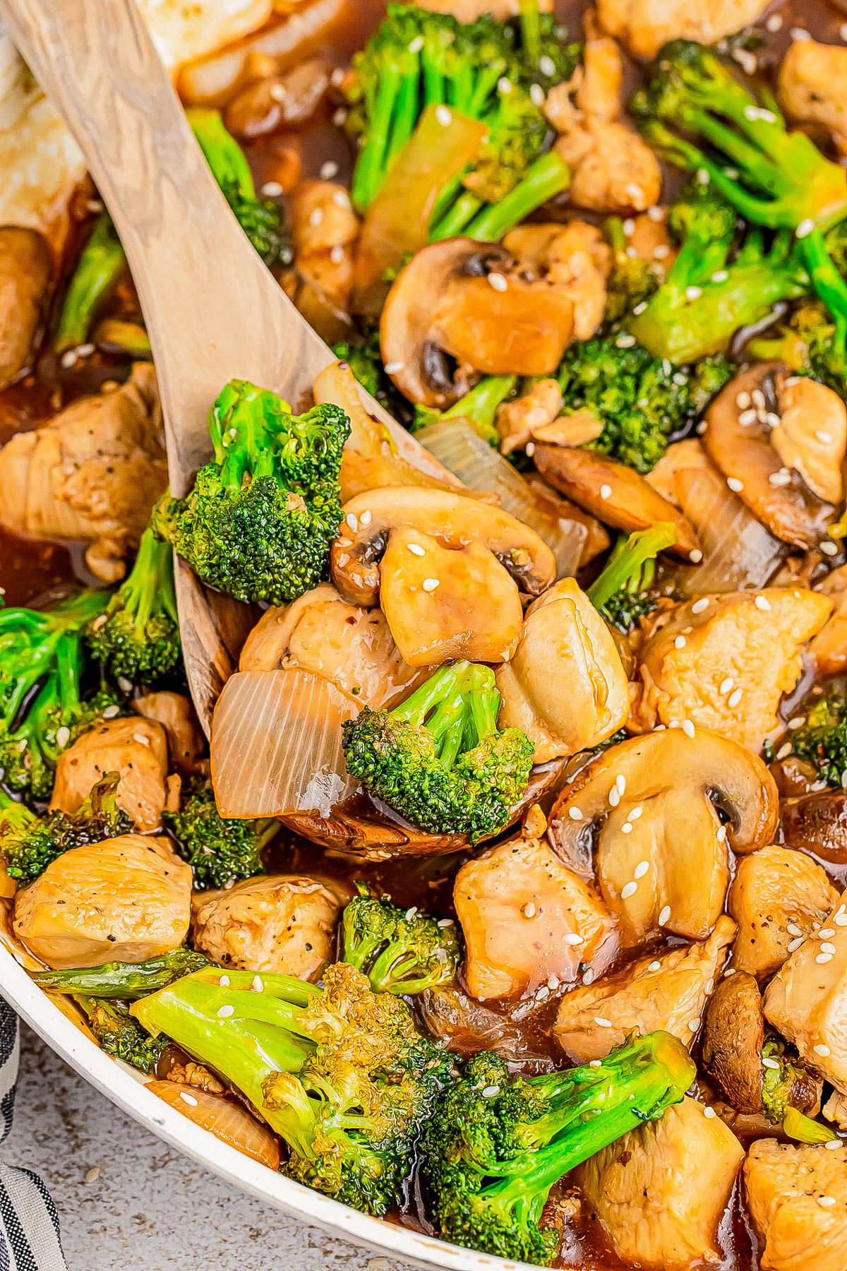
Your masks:
[{"label": "chicken piece on spoon, directly above the ridged onion piece", "polygon": [[268,609],[241,649],[241,671],[290,666],[326,676],[375,710],[395,705],[419,679],[400,657],[382,610],[348,605],[329,582]]}]

